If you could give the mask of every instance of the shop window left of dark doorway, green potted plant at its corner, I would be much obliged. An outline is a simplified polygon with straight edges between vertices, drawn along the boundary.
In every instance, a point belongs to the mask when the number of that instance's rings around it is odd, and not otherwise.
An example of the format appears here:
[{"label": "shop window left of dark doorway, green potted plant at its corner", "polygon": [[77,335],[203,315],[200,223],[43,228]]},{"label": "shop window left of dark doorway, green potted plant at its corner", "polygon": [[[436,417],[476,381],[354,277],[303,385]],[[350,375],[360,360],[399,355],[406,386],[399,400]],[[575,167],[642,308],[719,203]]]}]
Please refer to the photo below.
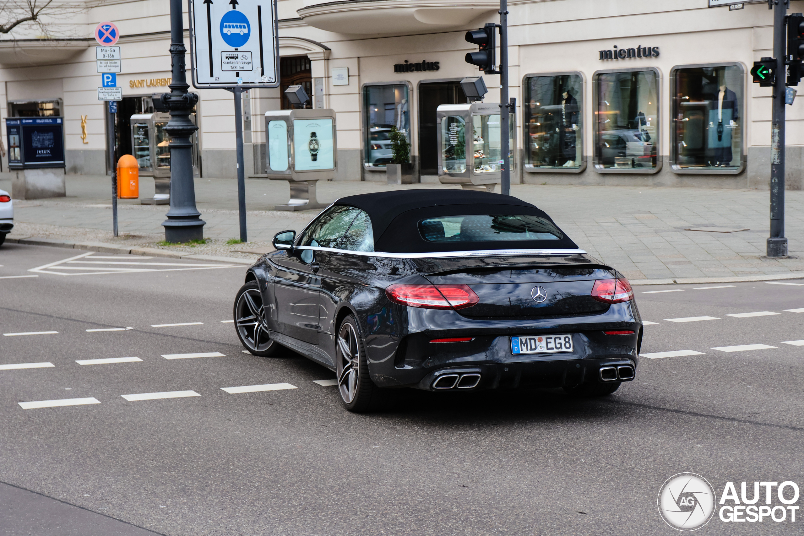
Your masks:
[{"label": "shop window left of dark doorway, green potted plant at its corner", "polygon": [[391,163],[391,133],[398,129],[410,141],[410,112],[406,84],[370,85],[363,88],[365,118],[363,162],[368,169],[384,169]]}]

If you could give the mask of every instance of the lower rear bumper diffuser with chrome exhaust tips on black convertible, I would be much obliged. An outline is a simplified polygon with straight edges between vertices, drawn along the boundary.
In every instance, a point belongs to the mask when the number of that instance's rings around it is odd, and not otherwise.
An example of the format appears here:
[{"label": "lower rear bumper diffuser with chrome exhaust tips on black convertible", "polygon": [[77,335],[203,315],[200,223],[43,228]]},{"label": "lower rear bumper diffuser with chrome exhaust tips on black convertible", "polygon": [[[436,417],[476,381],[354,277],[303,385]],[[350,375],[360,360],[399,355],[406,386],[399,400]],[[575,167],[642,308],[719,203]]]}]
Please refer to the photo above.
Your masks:
[{"label": "lower rear bumper diffuser with chrome exhaust tips on black convertible", "polygon": [[[612,379],[606,372],[620,369],[621,377]],[[622,359],[573,359],[529,363],[454,366],[433,370],[415,386],[424,391],[478,391],[515,389],[517,387],[576,387],[581,383],[630,382],[636,362]],[[604,375],[601,376],[601,370]]]}]

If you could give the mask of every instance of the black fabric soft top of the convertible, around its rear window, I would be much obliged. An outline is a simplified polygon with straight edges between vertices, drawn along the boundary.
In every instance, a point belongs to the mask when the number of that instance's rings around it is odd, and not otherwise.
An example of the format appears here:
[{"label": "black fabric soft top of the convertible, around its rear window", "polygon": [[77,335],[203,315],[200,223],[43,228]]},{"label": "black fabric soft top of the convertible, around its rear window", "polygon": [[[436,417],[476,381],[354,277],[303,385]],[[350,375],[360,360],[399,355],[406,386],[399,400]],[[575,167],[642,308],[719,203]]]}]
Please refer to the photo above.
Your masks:
[{"label": "black fabric soft top of the convertible, around its rear window", "polygon": [[[376,192],[339,198],[335,205],[358,207],[367,212],[374,231],[377,252],[425,253],[464,251],[466,249],[576,249],[564,231],[557,240],[515,240],[470,243],[434,243],[422,238],[421,219],[473,214],[533,215],[552,218],[544,211],[511,195],[472,190],[418,189]],[[558,229],[558,226],[556,226]]]}]

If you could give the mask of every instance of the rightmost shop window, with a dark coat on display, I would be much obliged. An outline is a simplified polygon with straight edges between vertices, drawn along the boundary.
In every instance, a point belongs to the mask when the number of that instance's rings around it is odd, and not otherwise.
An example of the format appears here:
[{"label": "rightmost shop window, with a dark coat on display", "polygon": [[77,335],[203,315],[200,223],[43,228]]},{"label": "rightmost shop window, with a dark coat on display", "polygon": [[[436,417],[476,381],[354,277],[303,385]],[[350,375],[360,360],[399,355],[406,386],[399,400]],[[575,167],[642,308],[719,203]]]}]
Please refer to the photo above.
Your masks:
[{"label": "rightmost shop window, with a dark coat on display", "polygon": [[674,170],[738,170],[742,162],[743,69],[675,69],[671,77]]}]

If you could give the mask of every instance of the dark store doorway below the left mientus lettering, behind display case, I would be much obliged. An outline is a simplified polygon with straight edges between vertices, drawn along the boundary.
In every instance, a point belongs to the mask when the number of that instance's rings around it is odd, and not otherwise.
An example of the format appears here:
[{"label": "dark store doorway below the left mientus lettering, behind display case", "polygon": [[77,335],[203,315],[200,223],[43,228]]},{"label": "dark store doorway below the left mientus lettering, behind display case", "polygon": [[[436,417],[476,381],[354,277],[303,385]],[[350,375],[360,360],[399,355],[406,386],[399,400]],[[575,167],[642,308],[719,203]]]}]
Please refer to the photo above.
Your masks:
[{"label": "dark store doorway below the left mientus lettering, behind display case", "polygon": [[422,175],[438,174],[436,110],[441,104],[464,104],[459,81],[419,84],[419,168]]}]

